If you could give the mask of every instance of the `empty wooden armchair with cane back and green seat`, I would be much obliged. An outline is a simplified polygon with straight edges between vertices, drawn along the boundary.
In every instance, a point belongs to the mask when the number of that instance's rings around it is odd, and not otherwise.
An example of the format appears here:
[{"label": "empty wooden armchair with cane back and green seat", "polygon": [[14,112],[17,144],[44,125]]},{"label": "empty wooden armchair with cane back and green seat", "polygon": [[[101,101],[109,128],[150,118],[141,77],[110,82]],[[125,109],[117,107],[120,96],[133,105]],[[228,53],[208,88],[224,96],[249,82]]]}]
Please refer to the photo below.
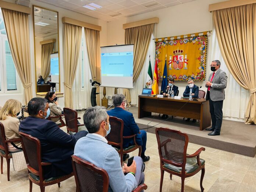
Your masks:
[{"label": "empty wooden armchair with cane back and green seat", "polygon": [[199,158],[199,154],[205,150],[204,147],[195,153],[186,154],[188,147],[188,135],[169,128],[156,128],[156,138],[160,156],[160,192],[162,191],[164,171],[181,177],[181,192],[184,192],[184,181],[202,170],[200,187],[203,192],[203,177],[205,175],[205,160]]}]

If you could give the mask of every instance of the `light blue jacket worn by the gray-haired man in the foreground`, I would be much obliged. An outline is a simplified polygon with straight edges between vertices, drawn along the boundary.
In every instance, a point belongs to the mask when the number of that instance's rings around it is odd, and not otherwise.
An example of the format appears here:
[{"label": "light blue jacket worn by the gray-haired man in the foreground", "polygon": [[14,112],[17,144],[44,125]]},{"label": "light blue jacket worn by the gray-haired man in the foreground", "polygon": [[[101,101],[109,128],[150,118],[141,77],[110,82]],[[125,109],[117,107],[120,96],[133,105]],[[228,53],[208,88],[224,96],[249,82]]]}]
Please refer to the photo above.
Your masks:
[{"label": "light blue jacket worn by the gray-haired man in the foreground", "polygon": [[134,175],[124,175],[117,151],[99,136],[87,134],[78,139],[74,154],[107,171],[109,192],[131,192],[137,186]]}]

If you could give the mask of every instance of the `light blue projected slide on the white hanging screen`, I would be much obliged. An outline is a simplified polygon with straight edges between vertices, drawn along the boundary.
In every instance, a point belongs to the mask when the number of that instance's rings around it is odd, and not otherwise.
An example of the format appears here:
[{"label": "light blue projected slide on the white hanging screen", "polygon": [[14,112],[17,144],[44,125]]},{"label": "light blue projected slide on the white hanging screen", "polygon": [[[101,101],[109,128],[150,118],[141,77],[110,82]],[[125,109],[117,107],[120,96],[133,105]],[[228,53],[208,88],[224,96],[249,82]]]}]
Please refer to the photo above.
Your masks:
[{"label": "light blue projected slide on the white hanging screen", "polygon": [[133,52],[102,53],[102,76],[132,77]]}]

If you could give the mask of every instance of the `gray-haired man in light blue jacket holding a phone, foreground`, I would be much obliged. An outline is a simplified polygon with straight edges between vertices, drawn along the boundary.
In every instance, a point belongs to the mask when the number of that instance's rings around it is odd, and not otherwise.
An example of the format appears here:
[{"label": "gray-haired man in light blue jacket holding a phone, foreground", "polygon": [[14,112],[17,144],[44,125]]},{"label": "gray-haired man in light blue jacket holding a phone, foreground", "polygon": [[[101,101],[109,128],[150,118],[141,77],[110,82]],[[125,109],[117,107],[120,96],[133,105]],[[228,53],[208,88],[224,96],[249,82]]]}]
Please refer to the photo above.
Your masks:
[{"label": "gray-haired man in light blue jacket holding a phone, foreground", "polygon": [[103,168],[109,175],[109,191],[131,192],[144,182],[144,165],[141,157],[134,157],[131,166],[120,165],[117,151],[107,144],[111,125],[106,107],[89,107],[83,115],[83,122],[89,134],[77,141],[75,156]]}]

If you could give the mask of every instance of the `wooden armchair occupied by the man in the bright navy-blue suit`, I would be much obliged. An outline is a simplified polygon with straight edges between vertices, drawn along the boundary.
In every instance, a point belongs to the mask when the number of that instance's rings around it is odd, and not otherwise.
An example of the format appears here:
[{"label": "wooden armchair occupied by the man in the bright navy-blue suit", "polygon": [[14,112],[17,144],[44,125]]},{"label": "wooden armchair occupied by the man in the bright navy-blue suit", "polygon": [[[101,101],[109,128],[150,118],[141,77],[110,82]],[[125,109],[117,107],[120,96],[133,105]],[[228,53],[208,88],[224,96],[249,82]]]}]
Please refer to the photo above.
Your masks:
[{"label": "wooden armchair occupied by the man in the bright navy-blue suit", "polygon": [[[111,125],[111,131],[110,133],[106,136],[106,139],[108,141],[109,145],[112,145],[115,150],[120,154],[120,159],[121,159],[121,166],[122,166],[122,157],[123,154],[130,153],[136,149],[139,149],[139,156],[141,156],[141,146],[138,145],[135,141],[135,135],[130,135],[130,136],[123,136],[123,131],[124,131],[124,122],[117,118],[117,117],[109,117],[109,123]],[[128,139],[128,138],[133,138],[134,139],[134,145],[123,148],[123,139]]]}]

